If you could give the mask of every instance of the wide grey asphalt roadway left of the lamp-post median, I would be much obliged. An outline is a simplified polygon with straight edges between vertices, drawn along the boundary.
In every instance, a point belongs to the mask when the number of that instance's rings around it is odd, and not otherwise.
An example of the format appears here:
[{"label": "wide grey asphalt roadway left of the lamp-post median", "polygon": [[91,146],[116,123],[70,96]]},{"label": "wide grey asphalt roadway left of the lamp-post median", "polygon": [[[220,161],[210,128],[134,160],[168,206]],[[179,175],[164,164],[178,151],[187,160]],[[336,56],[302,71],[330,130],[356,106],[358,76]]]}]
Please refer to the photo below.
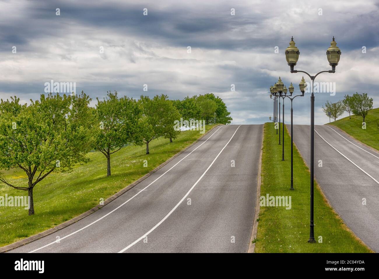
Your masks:
[{"label": "wide grey asphalt roadway left of the lamp-post median", "polygon": [[10,252],[247,252],[262,134],[215,128],[101,210]]}]

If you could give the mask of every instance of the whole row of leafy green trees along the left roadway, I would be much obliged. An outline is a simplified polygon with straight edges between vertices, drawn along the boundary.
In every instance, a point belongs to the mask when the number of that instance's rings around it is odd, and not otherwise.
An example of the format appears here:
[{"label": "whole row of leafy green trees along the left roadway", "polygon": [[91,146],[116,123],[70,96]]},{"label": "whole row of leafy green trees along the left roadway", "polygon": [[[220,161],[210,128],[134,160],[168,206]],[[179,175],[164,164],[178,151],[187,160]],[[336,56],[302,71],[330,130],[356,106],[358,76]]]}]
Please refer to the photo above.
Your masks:
[{"label": "whole row of leafy green trees along the left roadway", "polygon": [[106,158],[107,176],[111,175],[111,154],[128,143],[146,145],[158,137],[172,142],[180,131],[174,121],[205,120],[206,124],[230,124],[230,112],[213,93],[170,100],[167,95],[139,100],[119,97],[107,91],[96,107],[91,98],[80,94],[41,95],[30,104],[20,104],[16,96],[0,102],[0,170],[19,169],[27,183],[19,186],[0,173],[0,182],[28,191],[29,215],[34,214],[33,189],[50,173],[70,172],[74,164],[89,161],[86,154],[100,151]]}]

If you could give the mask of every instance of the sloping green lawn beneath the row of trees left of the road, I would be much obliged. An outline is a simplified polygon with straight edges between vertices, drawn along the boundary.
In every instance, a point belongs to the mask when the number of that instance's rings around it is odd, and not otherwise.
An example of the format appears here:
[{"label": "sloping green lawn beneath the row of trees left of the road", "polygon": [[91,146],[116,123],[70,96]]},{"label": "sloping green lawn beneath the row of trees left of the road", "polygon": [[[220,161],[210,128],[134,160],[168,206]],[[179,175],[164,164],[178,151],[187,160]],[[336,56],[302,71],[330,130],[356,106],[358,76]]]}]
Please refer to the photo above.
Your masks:
[{"label": "sloping green lawn beneath the row of trees left of the road", "polygon": [[[207,125],[206,131],[214,125]],[[28,236],[59,225],[106,200],[111,195],[143,177],[146,173],[171,158],[198,139],[199,131],[181,132],[176,140],[156,139],[146,146],[130,145],[111,155],[111,177],[106,177],[106,158],[100,152],[88,153],[91,162],[77,165],[71,173],[52,173],[33,191],[34,216],[28,216],[23,207],[0,207],[0,246],[5,246]],[[148,167],[143,167],[147,160]],[[9,181],[25,185],[23,172],[5,172]],[[27,191],[16,190],[0,184],[0,196],[28,195]]]}]

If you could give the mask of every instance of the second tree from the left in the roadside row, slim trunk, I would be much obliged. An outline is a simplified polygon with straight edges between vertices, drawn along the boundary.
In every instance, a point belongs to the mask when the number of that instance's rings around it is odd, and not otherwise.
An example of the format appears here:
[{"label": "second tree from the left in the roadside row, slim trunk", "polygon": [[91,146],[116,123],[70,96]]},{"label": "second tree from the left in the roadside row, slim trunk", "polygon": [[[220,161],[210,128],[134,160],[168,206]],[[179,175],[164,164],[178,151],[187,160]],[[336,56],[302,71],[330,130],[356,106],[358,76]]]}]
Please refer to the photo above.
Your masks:
[{"label": "second tree from the left in the roadside row, slim trunk", "polygon": [[111,154],[119,151],[127,142],[136,139],[140,115],[135,100],[124,96],[118,98],[117,91],[107,91],[103,101],[97,99],[96,114],[98,128],[95,149],[106,158],[106,176],[111,175]]}]

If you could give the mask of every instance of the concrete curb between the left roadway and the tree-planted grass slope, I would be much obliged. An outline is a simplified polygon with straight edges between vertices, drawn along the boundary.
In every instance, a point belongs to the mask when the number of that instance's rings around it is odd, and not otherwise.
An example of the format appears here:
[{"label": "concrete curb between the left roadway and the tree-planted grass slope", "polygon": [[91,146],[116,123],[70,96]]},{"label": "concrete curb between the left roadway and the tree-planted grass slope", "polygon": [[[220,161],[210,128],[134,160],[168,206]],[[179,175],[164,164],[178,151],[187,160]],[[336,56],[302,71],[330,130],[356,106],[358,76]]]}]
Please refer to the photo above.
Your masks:
[{"label": "concrete curb between the left roadway and the tree-planted grass slope", "polygon": [[51,235],[52,233],[55,233],[55,232],[58,232],[59,230],[61,229],[64,229],[66,227],[68,227],[69,225],[72,225],[78,221],[80,221],[81,219],[83,218],[86,218],[87,216],[91,215],[92,213],[96,212],[97,210],[99,210],[100,208],[102,208],[103,206],[107,205],[108,203],[112,202],[114,199],[116,199],[117,197],[121,196],[122,194],[124,194],[125,192],[129,191],[130,189],[132,189],[134,186],[136,186],[138,183],[140,183],[141,181],[145,180],[147,177],[149,177],[150,175],[152,175],[154,172],[156,172],[157,170],[161,169],[162,167],[166,166],[169,162],[171,162],[173,159],[175,159],[177,156],[179,156],[180,154],[182,154],[184,151],[186,151],[188,148],[192,147],[195,143],[199,142],[200,139],[202,139],[206,134],[208,134],[210,131],[212,131],[213,129],[215,129],[216,127],[220,126],[221,124],[219,125],[216,125],[214,127],[212,127],[209,131],[205,132],[204,135],[202,135],[201,137],[199,137],[199,139],[195,140],[193,143],[191,143],[190,145],[188,145],[186,148],[184,148],[182,151],[179,151],[178,153],[176,153],[174,156],[172,156],[170,159],[168,159],[166,162],[160,164],[158,167],[156,167],[155,169],[153,169],[152,171],[150,171],[149,173],[146,173],[146,175],[144,175],[143,177],[139,178],[138,180],[134,181],[132,184],[129,184],[128,186],[126,186],[124,189],[120,190],[119,192],[117,192],[116,194],[112,195],[111,197],[109,197],[108,199],[106,199],[104,201],[104,205],[96,205],[95,207],[91,208],[90,210],[86,211],[85,213],[82,213],[80,214],[79,216],[76,216],[75,218],[72,218],[60,225],[57,225],[56,227],[53,227],[51,229],[48,229],[48,230],[45,230],[44,232],[41,232],[41,233],[38,233],[36,235],[33,235],[33,236],[30,236],[28,238],[25,238],[23,240],[20,240],[20,241],[17,241],[17,242],[14,242],[12,244],[9,244],[7,246],[3,246],[3,247],[0,247],[0,253],[4,253],[4,252],[8,252],[8,251],[11,251],[13,249],[16,249],[18,247],[21,247],[21,246],[24,246],[28,243],[31,243],[33,241],[36,241],[36,240],[39,240],[47,235]]}]

